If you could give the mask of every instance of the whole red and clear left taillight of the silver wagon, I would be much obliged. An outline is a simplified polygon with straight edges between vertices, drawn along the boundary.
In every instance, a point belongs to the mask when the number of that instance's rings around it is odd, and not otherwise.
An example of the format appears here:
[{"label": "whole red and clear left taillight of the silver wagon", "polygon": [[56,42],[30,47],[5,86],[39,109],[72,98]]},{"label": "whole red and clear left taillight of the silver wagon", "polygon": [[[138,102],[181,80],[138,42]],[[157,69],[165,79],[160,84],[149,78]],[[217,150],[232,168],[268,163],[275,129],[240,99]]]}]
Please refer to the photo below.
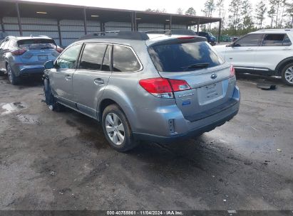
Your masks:
[{"label": "whole red and clear left taillight of the silver wagon", "polygon": [[185,80],[169,80],[161,77],[140,80],[139,83],[147,92],[160,98],[174,98],[173,92],[191,89]]}]

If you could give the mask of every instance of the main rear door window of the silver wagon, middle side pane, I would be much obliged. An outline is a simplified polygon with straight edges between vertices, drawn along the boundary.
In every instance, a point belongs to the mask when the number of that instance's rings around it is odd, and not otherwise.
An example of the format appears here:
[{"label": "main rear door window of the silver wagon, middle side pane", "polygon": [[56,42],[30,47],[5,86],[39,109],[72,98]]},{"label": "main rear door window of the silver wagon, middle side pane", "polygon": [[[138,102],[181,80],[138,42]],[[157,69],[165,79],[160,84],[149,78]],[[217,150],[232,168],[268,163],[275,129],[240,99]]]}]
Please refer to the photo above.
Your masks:
[{"label": "main rear door window of the silver wagon, middle side pane", "polygon": [[106,48],[106,44],[87,43],[83,49],[79,69],[101,70]]}]

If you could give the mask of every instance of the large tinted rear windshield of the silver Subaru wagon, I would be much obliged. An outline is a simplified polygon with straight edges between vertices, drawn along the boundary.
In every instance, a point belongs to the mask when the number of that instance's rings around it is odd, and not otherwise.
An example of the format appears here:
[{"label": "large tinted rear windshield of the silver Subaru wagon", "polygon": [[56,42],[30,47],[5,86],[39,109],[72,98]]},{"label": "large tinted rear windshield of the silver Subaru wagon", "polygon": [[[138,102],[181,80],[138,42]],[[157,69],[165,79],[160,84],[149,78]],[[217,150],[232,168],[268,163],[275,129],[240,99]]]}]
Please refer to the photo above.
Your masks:
[{"label": "large tinted rear windshield of the silver Subaru wagon", "polygon": [[[160,72],[183,72],[212,68],[224,60],[206,42],[155,45],[149,48],[150,57]],[[204,67],[201,65],[205,65]]]}]

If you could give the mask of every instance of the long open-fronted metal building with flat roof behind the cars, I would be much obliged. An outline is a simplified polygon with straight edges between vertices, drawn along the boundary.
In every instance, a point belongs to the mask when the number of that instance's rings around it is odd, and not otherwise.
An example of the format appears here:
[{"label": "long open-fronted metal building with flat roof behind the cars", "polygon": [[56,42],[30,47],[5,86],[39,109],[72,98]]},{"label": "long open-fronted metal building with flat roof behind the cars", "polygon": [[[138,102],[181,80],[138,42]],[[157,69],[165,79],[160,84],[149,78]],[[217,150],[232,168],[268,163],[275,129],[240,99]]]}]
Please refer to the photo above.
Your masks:
[{"label": "long open-fronted metal building with flat roof behind the cars", "polygon": [[[0,33],[8,36],[49,36],[66,46],[81,36],[98,31],[152,31],[182,29],[221,18],[185,16],[88,6],[0,0]],[[220,38],[220,37],[219,37]]]}]

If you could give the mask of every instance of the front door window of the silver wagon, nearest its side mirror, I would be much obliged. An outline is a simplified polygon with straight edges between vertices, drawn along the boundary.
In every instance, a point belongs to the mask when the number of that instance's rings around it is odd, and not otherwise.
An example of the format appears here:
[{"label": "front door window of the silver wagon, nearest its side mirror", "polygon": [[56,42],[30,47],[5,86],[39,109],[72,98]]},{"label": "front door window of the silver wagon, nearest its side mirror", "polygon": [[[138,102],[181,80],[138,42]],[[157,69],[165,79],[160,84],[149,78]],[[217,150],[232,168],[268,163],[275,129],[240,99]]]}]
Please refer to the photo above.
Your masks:
[{"label": "front door window of the silver wagon, nearest its side mirror", "polygon": [[76,44],[65,50],[56,61],[56,68],[72,69],[76,65],[81,44]]}]

